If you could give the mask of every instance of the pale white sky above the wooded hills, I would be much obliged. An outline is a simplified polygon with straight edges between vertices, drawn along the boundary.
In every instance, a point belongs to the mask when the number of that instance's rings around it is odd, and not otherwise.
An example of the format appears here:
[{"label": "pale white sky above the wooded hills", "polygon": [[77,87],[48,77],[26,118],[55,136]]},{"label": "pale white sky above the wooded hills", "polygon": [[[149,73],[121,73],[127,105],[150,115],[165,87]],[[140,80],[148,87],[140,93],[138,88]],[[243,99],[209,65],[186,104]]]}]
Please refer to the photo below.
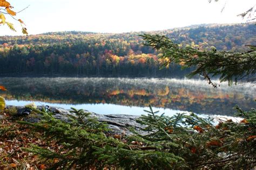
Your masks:
[{"label": "pale white sky above the wooded hills", "polygon": [[[194,24],[246,22],[237,15],[255,5],[255,0],[7,0],[20,11],[29,34],[55,31],[120,33],[178,28]],[[221,9],[225,6],[223,12]],[[21,26],[10,17],[17,32],[0,26],[0,36],[22,35]]]}]

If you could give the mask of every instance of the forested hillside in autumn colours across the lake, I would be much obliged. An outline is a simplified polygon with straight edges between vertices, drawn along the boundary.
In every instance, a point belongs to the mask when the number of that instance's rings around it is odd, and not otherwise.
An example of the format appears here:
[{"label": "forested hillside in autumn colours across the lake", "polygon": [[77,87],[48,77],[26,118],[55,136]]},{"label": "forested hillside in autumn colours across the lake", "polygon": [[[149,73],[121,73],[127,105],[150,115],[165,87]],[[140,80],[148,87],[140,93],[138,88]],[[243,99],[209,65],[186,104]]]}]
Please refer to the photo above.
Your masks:
[{"label": "forested hillside in autumn colours across the lake", "polygon": [[[164,31],[175,43],[198,49],[241,50],[256,44],[255,23],[198,25]],[[79,74],[81,76],[183,77],[178,65],[159,70],[165,61],[130,33],[49,32],[0,37],[0,74]]]}]

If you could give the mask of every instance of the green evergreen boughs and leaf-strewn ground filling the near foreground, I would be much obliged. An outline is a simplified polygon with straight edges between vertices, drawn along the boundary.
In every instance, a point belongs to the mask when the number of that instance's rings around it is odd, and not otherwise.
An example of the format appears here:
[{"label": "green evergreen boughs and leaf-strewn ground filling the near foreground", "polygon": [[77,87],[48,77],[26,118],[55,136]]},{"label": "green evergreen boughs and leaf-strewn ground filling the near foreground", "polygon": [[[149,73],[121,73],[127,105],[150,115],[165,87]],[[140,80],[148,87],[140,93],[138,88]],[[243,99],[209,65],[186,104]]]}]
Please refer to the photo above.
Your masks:
[{"label": "green evergreen boughs and leaf-strewn ground filling the near foreground", "polygon": [[[256,166],[256,111],[236,107],[240,122],[196,114],[145,111],[137,121],[148,135],[113,134],[90,113],[73,109],[69,123],[42,114],[39,123],[5,110],[0,126],[1,168],[30,169],[249,169]],[[36,114],[35,114],[36,113]],[[132,127],[131,127],[132,129]]]}]

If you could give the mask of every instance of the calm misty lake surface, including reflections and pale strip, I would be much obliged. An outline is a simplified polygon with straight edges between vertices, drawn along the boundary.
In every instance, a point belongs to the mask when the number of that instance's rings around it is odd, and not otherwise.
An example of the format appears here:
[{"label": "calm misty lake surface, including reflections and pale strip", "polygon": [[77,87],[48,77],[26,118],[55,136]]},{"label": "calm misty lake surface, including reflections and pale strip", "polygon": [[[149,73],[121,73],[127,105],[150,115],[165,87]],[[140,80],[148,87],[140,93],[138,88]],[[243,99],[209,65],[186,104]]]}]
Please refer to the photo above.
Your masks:
[{"label": "calm misty lake surface, including reflections and pale strip", "polygon": [[102,114],[143,114],[151,104],[166,114],[193,111],[233,115],[237,104],[255,107],[250,84],[214,89],[203,80],[143,78],[0,78],[8,105],[76,107]]}]

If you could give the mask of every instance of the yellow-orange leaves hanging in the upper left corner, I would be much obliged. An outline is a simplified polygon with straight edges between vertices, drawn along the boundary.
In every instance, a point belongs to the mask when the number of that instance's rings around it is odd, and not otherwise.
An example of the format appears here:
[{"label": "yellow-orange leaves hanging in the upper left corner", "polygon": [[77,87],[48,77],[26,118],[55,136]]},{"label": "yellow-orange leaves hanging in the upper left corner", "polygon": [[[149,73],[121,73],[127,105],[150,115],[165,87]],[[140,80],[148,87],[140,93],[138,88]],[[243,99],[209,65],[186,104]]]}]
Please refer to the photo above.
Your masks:
[{"label": "yellow-orange leaves hanging in the upper left corner", "polygon": [[[11,4],[9,2],[7,2],[5,0],[0,0],[0,25],[5,25],[6,24],[9,27],[9,29],[11,29],[12,31],[16,31],[15,28],[14,28],[14,24],[6,21],[5,15],[9,15],[21,24],[22,33],[25,34],[25,35],[28,35],[28,32],[26,31],[26,28],[24,27],[25,26],[24,22],[21,19],[16,19],[15,18],[16,14],[18,12],[13,11],[12,10],[13,8],[14,7],[11,6]],[[19,12],[21,12],[21,11],[19,11]]]}]

